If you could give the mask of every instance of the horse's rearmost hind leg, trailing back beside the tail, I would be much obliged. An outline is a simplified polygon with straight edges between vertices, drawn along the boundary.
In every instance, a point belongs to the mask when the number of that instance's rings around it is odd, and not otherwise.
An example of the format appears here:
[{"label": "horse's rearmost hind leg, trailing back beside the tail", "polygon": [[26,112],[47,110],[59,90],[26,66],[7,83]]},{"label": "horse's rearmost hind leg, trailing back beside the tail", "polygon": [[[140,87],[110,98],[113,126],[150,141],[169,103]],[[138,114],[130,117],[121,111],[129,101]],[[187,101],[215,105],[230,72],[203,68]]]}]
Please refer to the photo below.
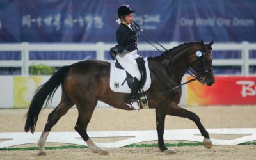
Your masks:
[{"label": "horse's rearmost hind leg, trailing back beside the tail", "polygon": [[52,127],[58,122],[58,120],[60,120],[61,116],[65,115],[68,109],[70,109],[73,105],[74,104],[72,103],[67,103],[61,100],[60,104],[58,104],[54,111],[49,114],[47,123],[44,127],[44,131],[42,132],[40,139],[38,140],[38,156],[46,154],[44,145],[49,132],[51,131]]}]

